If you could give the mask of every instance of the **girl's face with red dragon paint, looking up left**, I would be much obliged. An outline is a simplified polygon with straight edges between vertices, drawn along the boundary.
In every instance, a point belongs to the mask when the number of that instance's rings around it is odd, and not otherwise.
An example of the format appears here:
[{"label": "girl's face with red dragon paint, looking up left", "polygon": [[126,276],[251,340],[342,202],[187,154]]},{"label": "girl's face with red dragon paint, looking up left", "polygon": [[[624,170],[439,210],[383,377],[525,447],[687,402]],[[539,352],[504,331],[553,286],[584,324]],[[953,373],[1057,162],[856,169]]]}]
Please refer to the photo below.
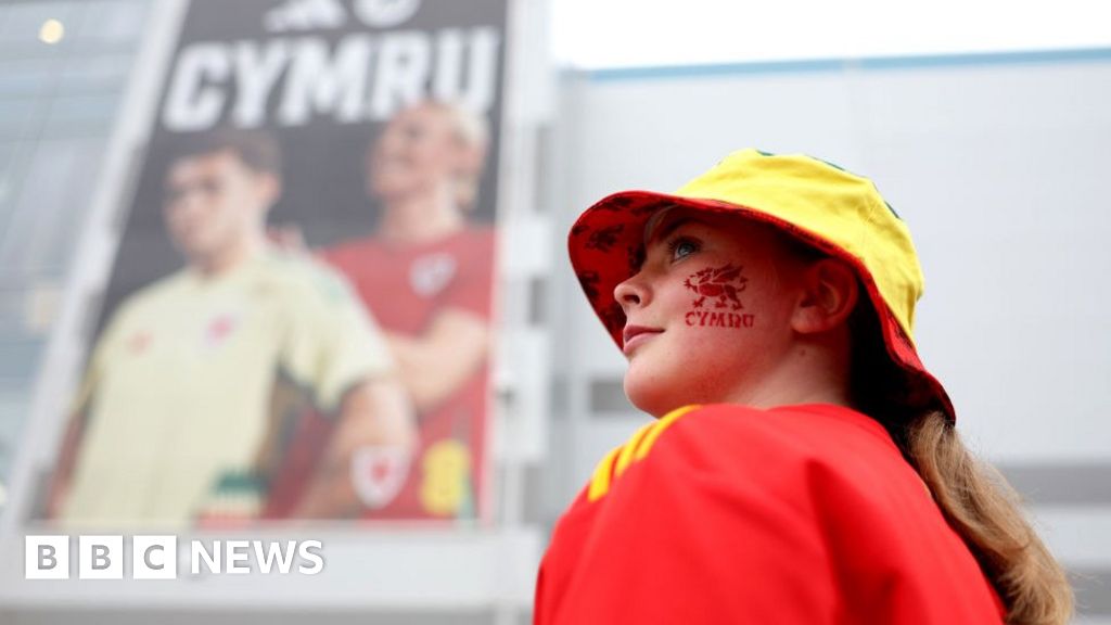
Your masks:
[{"label": "girl's face with red dragon paint, looking up left", "polygon": [[640,271],[614,289],[628,318],[629,399],[658,417],[688,404],[757,403],[792,349],[799,267],[770,226],[669,210]]}]

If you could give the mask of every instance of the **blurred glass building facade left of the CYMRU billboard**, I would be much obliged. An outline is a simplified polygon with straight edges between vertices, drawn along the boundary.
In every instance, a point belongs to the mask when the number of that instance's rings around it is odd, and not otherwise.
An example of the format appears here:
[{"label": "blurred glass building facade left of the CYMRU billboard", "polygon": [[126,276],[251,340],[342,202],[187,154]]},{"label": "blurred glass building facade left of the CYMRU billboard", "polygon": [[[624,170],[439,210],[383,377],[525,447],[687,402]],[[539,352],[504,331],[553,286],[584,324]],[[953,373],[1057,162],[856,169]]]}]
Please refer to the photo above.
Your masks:
[{"label": "blurred glass building facade left of the CYMRU billboard", "polygon": [[[32,309],[50,308],[73,260],[148,7],[0,0],[0,489],[50,325]],[[48,19],[64,28],[53,46],[39,40]]]}]

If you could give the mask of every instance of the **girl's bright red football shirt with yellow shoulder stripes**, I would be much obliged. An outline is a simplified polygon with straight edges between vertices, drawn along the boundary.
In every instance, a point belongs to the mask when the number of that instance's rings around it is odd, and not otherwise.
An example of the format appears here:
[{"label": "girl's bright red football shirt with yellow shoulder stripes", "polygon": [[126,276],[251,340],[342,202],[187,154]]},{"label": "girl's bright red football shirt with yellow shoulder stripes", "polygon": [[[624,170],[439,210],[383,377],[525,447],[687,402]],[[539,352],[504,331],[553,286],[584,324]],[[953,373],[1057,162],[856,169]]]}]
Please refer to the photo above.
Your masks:
[{"label": "girl's bright red football shirt with yellow shoulder stripes", "polygon": [[878,423],[717,405],[602,460],[556,527],[534,622],[983,624],[1002,604]]}]

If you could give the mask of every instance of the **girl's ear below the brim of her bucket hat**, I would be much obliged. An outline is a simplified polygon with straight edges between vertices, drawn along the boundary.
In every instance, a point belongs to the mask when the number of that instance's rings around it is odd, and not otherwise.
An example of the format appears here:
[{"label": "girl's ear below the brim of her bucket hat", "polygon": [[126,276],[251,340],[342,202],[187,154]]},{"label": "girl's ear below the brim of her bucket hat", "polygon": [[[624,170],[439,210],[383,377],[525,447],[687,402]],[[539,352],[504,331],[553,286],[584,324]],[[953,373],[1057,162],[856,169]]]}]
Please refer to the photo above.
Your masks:
[{"label": "girl's ear below the brim of her bucket hat", "polygon": [[848,323],[860,297],[857,274],[843,260],[823,258],[802,270],[803,294],[791,317],[799,334],[818,334]]}]

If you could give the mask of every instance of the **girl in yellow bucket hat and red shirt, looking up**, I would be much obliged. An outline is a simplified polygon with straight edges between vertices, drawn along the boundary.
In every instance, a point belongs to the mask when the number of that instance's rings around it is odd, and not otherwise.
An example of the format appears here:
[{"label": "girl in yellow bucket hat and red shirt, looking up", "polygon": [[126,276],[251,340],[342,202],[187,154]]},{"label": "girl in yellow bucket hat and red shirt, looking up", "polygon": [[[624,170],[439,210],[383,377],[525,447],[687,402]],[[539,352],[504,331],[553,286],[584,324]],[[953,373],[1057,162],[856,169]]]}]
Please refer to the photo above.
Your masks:
[{"label": "girl in yellow bucket hat and red shirt, looking up", "polygon": [[537,623],[1068,621],[918,358],[918,258],[869,180],[744,150],[601,200],[569,245],[657,419],[558,524]]}]

